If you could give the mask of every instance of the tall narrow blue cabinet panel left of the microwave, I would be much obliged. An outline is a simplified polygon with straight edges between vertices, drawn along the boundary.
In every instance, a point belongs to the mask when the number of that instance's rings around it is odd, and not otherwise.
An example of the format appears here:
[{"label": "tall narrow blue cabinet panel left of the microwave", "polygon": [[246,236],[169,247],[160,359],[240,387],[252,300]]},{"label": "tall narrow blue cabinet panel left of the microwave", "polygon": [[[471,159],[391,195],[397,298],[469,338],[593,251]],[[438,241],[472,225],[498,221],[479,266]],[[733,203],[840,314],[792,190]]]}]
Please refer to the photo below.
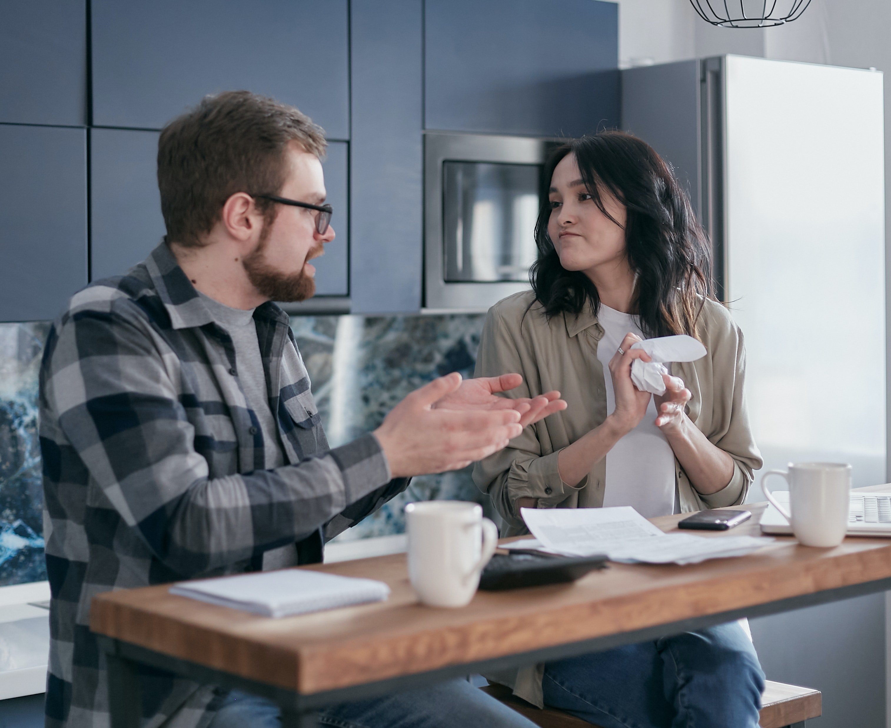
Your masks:
[{"label": "tall narrow blue cabinet panel left of the microwave", "polygon": [[352,0],[351,17],[351,311],[418,311],[421,0]]}]

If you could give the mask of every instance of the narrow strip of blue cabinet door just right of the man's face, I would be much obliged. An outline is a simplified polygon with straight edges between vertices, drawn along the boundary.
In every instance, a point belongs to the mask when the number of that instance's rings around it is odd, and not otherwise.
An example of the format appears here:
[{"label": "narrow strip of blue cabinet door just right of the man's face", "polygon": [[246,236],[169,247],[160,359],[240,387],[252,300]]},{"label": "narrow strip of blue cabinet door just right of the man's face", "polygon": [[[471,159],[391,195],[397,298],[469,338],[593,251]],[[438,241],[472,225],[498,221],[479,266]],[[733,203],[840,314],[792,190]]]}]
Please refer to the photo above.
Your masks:
[{"label": "narrow strip of blue cabinet door just right of the man's face", "polygon": [[334,208],[331,227],[335,238],[325,246],[325,255],[315,258],[315,295],[347,295],[349,260],[349,214],[347,205],[347,142],[329,142],[328,156],[322,163],[328,202]]}]

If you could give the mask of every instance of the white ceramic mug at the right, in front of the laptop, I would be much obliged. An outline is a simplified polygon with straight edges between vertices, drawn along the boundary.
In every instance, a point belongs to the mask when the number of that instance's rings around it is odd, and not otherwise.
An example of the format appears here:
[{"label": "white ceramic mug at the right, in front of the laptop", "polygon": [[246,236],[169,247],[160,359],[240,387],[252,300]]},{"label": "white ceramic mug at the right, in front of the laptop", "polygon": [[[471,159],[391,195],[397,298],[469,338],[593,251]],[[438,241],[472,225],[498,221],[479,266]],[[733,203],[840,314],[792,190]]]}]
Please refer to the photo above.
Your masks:
[{"label": "white ceramic mug at the right, in front of the laptop", "polygon": [[[789,483],[789,511],[777,503],[764,481],[780,475]],[[851,507],[851,466],[846,463],[789,463],[789,472],[761,476],[764,496],[792,526],[804,546],[838,546],[847,532]]]}]

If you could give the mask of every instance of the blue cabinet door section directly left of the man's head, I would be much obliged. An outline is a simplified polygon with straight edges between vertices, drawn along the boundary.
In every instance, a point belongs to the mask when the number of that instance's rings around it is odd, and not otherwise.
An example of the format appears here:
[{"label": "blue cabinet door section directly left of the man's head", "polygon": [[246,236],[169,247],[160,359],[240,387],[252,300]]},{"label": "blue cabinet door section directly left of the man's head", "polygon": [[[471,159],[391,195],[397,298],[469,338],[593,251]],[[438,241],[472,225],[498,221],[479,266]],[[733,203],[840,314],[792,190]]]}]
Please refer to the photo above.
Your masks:
[{"label": "blue cabinet door section directly left of the man's head", "polygon": [[158,132],[90,130],[90,278],[117,276],[164,236]]}]

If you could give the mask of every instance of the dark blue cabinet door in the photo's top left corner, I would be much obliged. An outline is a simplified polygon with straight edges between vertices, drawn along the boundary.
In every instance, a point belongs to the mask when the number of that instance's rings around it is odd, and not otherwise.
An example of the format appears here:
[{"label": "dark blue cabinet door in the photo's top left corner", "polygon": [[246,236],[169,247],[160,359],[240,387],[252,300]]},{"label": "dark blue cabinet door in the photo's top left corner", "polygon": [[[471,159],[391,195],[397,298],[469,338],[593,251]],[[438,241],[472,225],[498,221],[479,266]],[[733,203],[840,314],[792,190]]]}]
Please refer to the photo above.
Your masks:
[{"label": "dark blue cabinet door in the photo's top left corner", "polygon": [[85,0],[0,4],[0,123],[86,124]]}]

